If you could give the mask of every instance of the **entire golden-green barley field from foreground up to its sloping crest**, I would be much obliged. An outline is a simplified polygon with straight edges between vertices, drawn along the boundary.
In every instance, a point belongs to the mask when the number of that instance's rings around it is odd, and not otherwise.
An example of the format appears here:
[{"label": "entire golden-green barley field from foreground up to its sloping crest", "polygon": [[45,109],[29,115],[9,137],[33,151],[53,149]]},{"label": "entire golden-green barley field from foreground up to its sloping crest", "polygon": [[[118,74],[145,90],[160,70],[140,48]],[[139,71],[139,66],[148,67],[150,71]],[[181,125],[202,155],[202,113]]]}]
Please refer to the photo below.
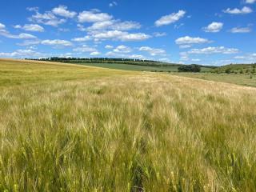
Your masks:
[{"label": "entire golden-green barley field from foreground up to its sloping crest", "polygon": [[254,88],[59,64],[0,71],[0,190],[256,189]]}]

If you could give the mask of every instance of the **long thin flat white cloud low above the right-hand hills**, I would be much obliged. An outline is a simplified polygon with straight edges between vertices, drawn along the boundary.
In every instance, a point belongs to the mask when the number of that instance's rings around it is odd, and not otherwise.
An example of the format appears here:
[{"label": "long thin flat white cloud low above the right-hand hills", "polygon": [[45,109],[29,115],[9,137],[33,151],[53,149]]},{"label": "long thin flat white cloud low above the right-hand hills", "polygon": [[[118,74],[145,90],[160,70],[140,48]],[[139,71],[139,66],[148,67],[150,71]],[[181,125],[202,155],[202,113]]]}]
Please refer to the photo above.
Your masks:
[{"label": "long thin flat white cloud low above the right-hand hills", "polygon": [[237,54],[238,49],[226,48],[224,46],[210,46],[203,49],[192,49],[188,54]]}]

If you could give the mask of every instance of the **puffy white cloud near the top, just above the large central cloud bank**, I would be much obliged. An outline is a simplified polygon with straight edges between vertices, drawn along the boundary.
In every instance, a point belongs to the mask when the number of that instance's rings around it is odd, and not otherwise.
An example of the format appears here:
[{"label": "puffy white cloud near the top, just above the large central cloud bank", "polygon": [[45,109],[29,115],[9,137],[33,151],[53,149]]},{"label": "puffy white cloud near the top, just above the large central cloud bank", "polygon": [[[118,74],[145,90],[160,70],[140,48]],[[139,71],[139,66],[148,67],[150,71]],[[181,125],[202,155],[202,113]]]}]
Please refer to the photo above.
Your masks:
[{"label": "puffy white cloud near the top, just above the large central cloud bank", "polygon": [[100,13],[99,10],[83,11],[78,14],[78,22],[104,22],[112,18],[110,14]]}]

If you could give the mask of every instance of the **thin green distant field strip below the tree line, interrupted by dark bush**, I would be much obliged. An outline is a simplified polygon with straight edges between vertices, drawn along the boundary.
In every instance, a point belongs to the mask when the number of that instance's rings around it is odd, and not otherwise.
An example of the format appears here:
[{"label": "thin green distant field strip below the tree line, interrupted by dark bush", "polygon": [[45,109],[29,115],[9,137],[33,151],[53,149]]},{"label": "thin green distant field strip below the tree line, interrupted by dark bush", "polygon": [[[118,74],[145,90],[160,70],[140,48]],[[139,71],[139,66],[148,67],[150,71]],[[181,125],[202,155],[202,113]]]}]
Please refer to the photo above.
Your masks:
[{"label": "thin green distant field strip below the tree line, interrupted by dark bush", "polygon": [[[135,70],[135,71],[156,71],[156,72],[178,72],[178,66],[139,66],[129,64],[110,63],[78,63],[84,66],[98,66],[108,69]],[[210,68],[202,67],[202,72],[210,71]]]}]

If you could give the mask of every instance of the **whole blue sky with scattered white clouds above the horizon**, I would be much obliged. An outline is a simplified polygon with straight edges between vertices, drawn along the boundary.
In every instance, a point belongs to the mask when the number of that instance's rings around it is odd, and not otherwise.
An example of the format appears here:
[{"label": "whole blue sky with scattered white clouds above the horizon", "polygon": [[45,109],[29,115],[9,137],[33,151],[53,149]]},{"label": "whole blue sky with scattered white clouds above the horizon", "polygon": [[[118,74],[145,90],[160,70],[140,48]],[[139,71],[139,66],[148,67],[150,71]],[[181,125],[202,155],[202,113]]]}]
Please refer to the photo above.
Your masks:
[{"label": "whole blue sky with scattered white clouds above the horizon", "polygon": [[0,2],[0,57],[256,62],[256,0]]}]

